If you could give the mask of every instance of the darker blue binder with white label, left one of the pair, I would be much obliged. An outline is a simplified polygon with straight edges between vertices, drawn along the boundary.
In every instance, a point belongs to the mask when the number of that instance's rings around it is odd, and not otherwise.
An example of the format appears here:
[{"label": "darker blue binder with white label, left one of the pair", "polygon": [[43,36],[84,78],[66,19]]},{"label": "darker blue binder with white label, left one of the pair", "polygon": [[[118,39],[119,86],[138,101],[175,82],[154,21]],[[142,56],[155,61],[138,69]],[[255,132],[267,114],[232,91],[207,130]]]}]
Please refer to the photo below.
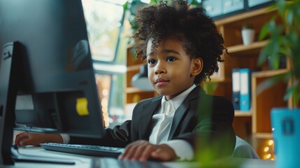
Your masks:
[{"label": "darker blue binder with white label, left one of the pair", "polygon": [[232,104],[235,110],[240,110],[240,69],[232,69]]}]

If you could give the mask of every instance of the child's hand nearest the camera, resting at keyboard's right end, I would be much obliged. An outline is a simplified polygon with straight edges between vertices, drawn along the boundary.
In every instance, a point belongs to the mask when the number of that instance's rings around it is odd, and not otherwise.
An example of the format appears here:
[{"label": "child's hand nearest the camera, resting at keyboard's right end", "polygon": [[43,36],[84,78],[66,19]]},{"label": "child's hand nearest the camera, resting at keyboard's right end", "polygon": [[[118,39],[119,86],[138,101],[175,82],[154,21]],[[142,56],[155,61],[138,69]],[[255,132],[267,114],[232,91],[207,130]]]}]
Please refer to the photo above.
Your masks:
[{"label": "child's hand nearest the camera, resting at keyboard's right end", "polygon": [[160,160],[160,161],[170,161],[177,158],[173,149],[166,145],[154,145],[150,144],[148,141],[135,141],[129,144],[124,153],[119,156],[120,160]]}]

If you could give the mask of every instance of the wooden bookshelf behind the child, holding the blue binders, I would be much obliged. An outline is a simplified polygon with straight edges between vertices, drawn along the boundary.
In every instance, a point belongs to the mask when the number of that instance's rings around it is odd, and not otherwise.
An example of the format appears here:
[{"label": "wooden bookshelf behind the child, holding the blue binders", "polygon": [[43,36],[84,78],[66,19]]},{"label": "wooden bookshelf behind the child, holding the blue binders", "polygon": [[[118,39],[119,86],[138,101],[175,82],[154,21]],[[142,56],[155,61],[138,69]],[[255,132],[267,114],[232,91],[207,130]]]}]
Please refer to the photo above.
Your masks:
[{"label": "wooden bookshelf behind the child, holding the blue binders", "polygon": [[[260,8],[215,20],[217,29],[224,37],[229,55],[224,57],[224,66],[220,67],[221,73],[224,74],[222,76],[224,80],[218,81],[215,79],[220,87],[217,87],[214,94],[232,99],[231,70],[234,68],[249,68],[255,71],[252,72],[251,78],[251,109],[250,111],[235,111],[234,129],[239,137],[252,144],[262,159],[273,158],[273,156],[266,158],[266,152],[264,152],[264,147],[271,145],[271,140],[273,140],[270,119],[271,108],[289,106],[290,104],[290,102],[283,100],[288,83],[280,82],[260,93],[257,92],[259,83],[288,71],[288,66],[285,69],[272,70],[267,62],[263,66],[257,66],[259,53],[268,43],[267,39],[264,41],[257,40],[259,31],[266,22],[269,22],[276,15],[276,12],[275,9]],[[281,21],[276,20],[276,22]],[[255,42],[250,45],[243,45],[241,38],[243,25],[252,25],[255,29]],[[230,92],[227,90],[230,90]],[[273,151],[269,151],[269,153],[273,155]]]}]

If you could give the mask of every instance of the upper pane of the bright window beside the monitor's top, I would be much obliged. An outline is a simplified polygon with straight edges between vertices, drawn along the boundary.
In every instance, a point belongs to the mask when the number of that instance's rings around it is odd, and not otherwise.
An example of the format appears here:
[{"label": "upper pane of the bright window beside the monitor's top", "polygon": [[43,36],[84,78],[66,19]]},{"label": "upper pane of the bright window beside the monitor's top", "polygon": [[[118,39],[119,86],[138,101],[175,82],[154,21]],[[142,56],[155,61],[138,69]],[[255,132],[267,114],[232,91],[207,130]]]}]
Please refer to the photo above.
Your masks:
[{"label": "upper pane of the bright window beside the monitor's top", "polygon": [[[126,0],[82,0],[87,22],[87,34],[94,60],[112,62],[115,59],[123,22]],[[120,63],[120,62],[119,62]]]}]

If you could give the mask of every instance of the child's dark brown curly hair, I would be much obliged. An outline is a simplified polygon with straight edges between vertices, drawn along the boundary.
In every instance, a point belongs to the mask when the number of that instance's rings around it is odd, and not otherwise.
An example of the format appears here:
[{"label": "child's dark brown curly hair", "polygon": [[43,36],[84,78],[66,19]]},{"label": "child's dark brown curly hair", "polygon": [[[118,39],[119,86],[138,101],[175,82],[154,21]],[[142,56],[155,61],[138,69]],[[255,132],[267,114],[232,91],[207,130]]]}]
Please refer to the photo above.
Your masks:
[{"label": "child's dark brown curly hair", "polygon": [[168,5],[160,1],[157,5],[145,6],[138,10],[134,22],[138,26],[132,38],[138,41],[136,58],[146,58],[147,43],[153,39],[156,50],[165,38],[180,41],[190,58],[201,57],[203,69],[194,79],[194,83],[210,80],[210,76],[219,70],[217,62],[224,62],[221,55],[224,39],[203,8],[192,8],[187,1],[173,1]]}]

